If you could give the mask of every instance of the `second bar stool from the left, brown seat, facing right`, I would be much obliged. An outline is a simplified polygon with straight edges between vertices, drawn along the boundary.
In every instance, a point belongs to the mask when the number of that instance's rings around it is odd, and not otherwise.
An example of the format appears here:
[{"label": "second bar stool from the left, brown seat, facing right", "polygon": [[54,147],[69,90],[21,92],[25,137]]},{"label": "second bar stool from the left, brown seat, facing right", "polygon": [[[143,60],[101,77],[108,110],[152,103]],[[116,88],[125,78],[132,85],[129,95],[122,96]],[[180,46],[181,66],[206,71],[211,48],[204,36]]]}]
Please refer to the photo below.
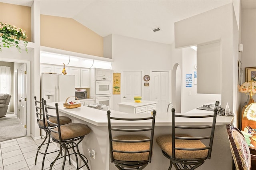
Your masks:
[{"label": "second bar stool from the left, brown seat, facing right", "polygon": [[[62,164],[62,170],[64,170],[65,162],[66,162],[66,156],[69,156],[69,164],[71,165],[70,161],[70,155],[74,154],[76,157],[76,168],[80,169],[84,166],[87,167],[89,170],[88,166],[88,159],[80,154],[78,145],[82,140],[84,139],[84,136],[86,134],[89,134],[91,129],[82,123],[68,123],[66,125],[60,125],[60,116],[59,116],[59,110],[58,110],[58,103],[55,103],[55,107],[48,107],[46,105],[46,101],[44,101],[44,109],[46,113],[46,119],[48,123],[48,130],[50,132],[50,136],[52,137],[52,140],[58,144],[64,149],[64,156],[61,156],[62,150],[60,150],[59,154],[56,156],[53,162],[50,164],[50,170],[52,170],[52,167],[54,166],[54,163],[56,160],[60,158],[64,158],[63,164]],[[50,110],[54,110],[56,115],[53,115],[50,113]],[[57,119],[57,123],[52,122],[51,120],[53,118]],[[51,127],[50,125],[55,125],[56,127]],[[76,148],[76,150],[75,150]],[[69,152],[69,149],[73,150],[73,153]],[[80,159],[84,162],[82,166],[79,167],[78,163],[78,156]]]}]

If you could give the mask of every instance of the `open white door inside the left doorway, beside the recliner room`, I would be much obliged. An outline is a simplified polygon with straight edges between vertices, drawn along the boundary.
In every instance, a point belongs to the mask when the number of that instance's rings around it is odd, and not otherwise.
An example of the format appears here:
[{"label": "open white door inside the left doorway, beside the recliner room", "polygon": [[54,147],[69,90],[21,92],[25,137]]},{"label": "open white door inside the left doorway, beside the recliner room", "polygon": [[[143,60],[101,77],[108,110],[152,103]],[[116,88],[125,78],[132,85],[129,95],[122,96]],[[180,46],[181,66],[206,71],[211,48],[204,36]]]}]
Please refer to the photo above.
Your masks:
[{"label": "open white door inside the left doorway, beside the recliner room", "polygon": [[20,118],[20,125],[21,131],[24,135],[26,135],[26,99],[27,99],[27,91],[26,91],[26,64],[20,66],[20,73],[19,73],[19,85],[18,85],[18,94],[19,94],[19,118]]}]

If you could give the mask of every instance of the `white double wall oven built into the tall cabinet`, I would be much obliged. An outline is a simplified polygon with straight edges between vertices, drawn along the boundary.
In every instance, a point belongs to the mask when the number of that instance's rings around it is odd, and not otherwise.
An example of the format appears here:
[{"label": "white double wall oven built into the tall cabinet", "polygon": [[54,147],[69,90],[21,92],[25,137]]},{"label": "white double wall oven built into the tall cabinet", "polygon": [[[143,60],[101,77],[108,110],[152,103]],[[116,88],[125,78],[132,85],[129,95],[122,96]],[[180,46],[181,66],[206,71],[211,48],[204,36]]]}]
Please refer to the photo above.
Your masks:
[{"label": "white double wall oven built into the tall cabinet", "polygon": [[111,77],[95,77],[95,103],[112,107],[112,80]]}]

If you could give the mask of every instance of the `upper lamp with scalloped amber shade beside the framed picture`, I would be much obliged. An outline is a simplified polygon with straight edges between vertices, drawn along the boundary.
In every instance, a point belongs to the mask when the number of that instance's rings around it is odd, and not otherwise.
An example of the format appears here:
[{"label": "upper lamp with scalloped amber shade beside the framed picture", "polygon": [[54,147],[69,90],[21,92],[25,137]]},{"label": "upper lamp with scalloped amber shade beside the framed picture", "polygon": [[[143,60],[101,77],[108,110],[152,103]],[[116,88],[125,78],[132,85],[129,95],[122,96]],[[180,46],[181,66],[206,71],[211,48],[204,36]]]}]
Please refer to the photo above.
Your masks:
[{"label": "upper lamp with scalloped amber shade beside the framed picture", "polygon": [[[247,103],[247,105],[250,105],[251,103],[254,103],[254,100],[253,100],[252,96],[255,95],[255,93],[256,93],[256,81],[244,82],[240,86],[239,92],[245,93],[246,95],[250,95],[250,100]],[[245,106],[245,107],[247,107],[247,106]]]}]

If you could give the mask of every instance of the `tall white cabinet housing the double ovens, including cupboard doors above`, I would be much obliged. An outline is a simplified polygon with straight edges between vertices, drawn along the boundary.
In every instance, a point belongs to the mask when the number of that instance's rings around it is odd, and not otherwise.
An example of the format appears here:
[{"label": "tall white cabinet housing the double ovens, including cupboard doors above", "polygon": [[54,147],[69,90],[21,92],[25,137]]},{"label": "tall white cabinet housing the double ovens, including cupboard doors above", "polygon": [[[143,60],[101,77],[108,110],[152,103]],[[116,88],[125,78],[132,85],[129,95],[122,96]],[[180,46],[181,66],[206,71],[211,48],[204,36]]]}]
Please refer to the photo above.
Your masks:
[{"label": "tall white cabinet housing the double ovens, including cupboard doors above", "polygon": [[90,97],[95,103],[112,108],[112,70],[93,68],[90,71],[91,88]]}]

